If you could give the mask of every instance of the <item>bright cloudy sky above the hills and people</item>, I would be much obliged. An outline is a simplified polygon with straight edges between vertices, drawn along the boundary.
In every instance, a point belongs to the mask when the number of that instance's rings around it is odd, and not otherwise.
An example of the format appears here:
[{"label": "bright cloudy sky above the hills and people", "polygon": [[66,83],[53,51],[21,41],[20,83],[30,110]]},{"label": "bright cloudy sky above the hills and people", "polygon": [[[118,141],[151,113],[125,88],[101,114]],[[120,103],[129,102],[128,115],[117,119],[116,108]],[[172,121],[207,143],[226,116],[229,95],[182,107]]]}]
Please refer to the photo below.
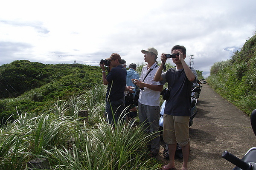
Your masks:
[{"label": "bright cloudy sky above the hills and people", "polygon": [[184,45],[207,77],[213,63],[230,59],[255,31],[255,0],[5,0],[0,65],[20,59],[99,65],[112,53],[141,64],[142,49],[161,54]]}]

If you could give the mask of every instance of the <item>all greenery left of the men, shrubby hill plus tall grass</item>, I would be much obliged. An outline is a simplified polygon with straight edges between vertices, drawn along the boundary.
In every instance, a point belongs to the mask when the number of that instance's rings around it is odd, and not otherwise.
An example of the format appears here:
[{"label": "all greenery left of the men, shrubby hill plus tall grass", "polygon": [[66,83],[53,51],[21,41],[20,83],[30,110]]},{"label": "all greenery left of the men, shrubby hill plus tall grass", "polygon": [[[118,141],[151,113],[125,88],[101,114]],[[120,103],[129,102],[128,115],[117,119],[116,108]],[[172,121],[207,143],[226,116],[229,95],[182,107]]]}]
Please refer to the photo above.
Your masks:
[{"label": "all greenery left of the men, shrubby hill plus tall grass", "polygon": [[[105,123],[101,79],[96,66],[28,60],[0,66],[0,170],[26,169],[35,158],[47,158],[52,170],[158,169],[145,148],[150,135]],[[79,116],[83,110],[88,117]]]}]

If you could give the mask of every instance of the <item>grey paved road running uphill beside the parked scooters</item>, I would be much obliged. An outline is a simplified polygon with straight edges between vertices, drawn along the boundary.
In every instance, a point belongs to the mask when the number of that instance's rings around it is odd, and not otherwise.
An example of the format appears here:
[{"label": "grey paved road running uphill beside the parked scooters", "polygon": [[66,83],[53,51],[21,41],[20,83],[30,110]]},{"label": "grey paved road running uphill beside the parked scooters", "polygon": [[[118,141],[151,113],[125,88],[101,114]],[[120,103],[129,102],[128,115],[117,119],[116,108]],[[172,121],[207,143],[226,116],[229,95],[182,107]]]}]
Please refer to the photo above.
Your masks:
[{"label": "grey paved road running uphill beside the parked scooters", "polygon": [[[198,114],[189,130],[189,170],[232,170],[234,165],[223,159],[221,153],[227,150],[241,158],[248,149],[256,147],[250,117],[216,94],[208,84],[203,86]],[[180,169],[182,159],[175,161]]]}]

